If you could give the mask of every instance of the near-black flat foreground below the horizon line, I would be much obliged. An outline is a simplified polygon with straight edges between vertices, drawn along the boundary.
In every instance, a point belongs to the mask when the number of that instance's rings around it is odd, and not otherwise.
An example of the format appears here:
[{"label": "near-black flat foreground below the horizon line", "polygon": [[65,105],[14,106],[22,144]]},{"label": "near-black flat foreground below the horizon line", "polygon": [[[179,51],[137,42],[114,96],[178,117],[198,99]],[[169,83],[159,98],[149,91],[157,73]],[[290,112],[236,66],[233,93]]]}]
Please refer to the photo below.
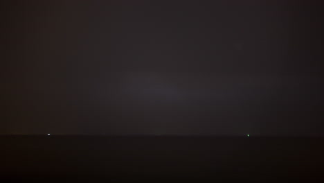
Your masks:
[{"label": "near-black flat foreground below the horizon line", "polygon": [[1,182],[323,182],[314,137],[0,137]]}]

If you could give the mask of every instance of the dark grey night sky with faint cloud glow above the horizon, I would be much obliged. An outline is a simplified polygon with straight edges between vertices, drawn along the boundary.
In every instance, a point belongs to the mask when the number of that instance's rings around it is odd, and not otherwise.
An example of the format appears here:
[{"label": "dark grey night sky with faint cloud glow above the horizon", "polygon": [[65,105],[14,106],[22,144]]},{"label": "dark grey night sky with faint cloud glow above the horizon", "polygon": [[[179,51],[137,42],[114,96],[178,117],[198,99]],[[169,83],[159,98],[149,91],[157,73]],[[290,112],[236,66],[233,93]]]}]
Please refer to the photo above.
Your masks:
[{"label": "dark grey night sky with faint cloud glow above the horizon", "polygon": [[0,134],[324,134],[321,1],[10,1]]}]

